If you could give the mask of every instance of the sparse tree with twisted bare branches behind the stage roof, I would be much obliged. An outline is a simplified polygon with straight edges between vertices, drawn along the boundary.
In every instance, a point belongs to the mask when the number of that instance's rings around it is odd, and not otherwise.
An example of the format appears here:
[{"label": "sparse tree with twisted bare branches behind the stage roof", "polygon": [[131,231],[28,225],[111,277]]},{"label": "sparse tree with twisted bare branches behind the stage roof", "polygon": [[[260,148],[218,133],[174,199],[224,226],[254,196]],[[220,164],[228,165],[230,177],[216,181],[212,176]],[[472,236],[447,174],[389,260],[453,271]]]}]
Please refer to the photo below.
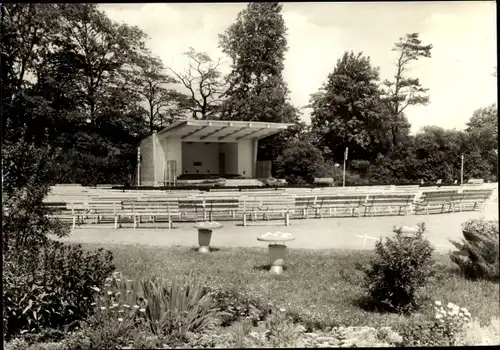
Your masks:
[{"label": "sparse tree with twisted bare branches behind the stage roof", "polygon": [[217,119],[225,86],[219,71],[222,59],[212,61],[206,53],[192,47],[184,54],[189,58],[188,68],[182,73],[170,69],[188,90],[188,95],[177,95],[180,107],[194,119]]}]

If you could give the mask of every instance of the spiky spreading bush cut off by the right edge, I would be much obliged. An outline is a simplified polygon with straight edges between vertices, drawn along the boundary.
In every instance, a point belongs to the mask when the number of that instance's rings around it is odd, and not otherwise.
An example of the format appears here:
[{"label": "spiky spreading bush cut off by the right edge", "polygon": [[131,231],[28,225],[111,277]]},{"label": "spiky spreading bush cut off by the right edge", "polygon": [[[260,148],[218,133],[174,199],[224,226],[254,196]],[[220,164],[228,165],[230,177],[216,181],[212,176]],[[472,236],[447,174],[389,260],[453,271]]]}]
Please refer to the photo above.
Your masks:
[{"label": "spiky spreading bush cut off by the right edge", "polygon": [[499,230],[495,220],[469,220],[462,226],[462,243],[451,241],[458,251],[450,259],[470,279],[499,280]]}]

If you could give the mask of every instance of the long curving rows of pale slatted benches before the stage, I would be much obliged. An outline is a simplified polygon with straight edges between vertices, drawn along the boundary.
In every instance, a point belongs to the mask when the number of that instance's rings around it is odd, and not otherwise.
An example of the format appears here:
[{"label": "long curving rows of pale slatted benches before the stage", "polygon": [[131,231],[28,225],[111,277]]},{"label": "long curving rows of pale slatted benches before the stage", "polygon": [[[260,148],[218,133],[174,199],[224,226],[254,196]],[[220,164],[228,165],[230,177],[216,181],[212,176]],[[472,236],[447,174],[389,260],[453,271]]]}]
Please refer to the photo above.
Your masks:
[{"label": "long curving rows of pale slatted benches before the stage", "polygon": [[133,220],[134,227],[145,218],[153,221],[173,218],[179,220],[283,218],[289,224],[291,217],[374,216],[447,213],[482,209],[492,189],[454,191],[424,191],[420,193],[348,193],[348,194],[287,194],[259,193],[237,195],[217,193],[179,197],[155,194],[148,197],[129,193],[106,197],[80,197],[71,201],[46,203],[50,215],[70,219],[76,224],[95,219],[114,219],[115,228],[123,219]]}]

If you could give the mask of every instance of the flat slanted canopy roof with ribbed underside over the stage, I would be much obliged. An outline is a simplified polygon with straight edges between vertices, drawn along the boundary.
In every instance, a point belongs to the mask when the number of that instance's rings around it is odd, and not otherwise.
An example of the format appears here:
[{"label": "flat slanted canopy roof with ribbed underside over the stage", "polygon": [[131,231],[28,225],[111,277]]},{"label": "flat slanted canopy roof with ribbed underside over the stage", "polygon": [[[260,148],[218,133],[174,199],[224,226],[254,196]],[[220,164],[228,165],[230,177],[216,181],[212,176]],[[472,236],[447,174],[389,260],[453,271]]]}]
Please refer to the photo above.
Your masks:
[{"label": "flat slanted canopy roof with ribbed underside over the stage", "polygon": [[286,130],[293,124],[223,120],[181,120],[158,132],[185,142],[238,142],[259,140]]}]

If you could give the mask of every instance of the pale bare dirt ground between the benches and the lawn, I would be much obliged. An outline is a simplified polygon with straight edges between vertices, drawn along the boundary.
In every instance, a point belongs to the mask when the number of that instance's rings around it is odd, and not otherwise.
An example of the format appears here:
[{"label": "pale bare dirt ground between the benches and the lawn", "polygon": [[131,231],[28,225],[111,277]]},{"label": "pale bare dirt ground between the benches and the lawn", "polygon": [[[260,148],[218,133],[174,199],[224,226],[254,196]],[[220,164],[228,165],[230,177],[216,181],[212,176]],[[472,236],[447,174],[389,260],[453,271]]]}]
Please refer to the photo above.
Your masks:
[{"label": "pale bare dirt ground between the benches and the lawn", "polygon": [[[409,215],[392,217],[326,218],[291,220],[286,227],[281,221],[256,221],[249,226],[241,222],[222,222],[215,230],[211,245],[214,247],[263,247],[265,243],[257,237],[268,231],[290,232],[295,240],[287,245],[290,249],[372,249],[379,237],[391,236],[393,226],[416,225],[425,222],[426,235],[438,251],[448,251],[453,246],[449,239],[461,239],[461,224],[472,218],[484,217],[498,220],[498,202],[491,201],[482,212],[465,212],[434,215]],[[160,227],[157,227],[159,226]],[[69,237],[63,239],[73,243],[97,244],[145,244],[155,246],[195,246],[197,231],[193,223],[175,223],[169,230],[166,224],[144,223],[133,229],[131,224],[118,230],[113,224],[85,225],[77,227]]]}]

